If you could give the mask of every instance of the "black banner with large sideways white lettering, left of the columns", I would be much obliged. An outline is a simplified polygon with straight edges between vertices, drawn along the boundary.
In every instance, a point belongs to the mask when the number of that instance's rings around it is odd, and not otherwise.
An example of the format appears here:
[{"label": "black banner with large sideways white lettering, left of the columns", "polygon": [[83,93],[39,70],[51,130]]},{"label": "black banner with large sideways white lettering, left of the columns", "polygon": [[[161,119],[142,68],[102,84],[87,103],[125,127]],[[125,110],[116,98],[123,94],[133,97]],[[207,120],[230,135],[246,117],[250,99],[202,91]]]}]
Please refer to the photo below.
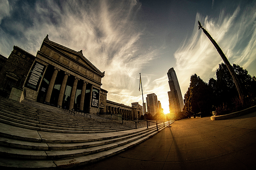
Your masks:
[{"label": "black banner with large sideways white lettering, left of the columns", "polygon": [[25,87],[37,91],[45,68],[45,65],[36,61],[29,72]]}]

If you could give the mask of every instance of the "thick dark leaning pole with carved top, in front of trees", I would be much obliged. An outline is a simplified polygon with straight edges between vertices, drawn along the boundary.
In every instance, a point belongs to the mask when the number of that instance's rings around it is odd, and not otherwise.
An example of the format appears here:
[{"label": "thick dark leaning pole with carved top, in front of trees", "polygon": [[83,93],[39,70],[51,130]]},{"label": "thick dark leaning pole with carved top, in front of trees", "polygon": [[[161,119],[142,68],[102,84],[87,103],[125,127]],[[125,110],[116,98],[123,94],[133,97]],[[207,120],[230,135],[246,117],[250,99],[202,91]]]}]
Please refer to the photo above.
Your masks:
[{"label": "thick dark leaning pole with carved top, in front of trees", "polygon": [[217,44],[217,42],[215,42],[215,40],[211,37],[211,35],[203,28],[203,26],[201,26],[201,23],[198,21],[198,29],[202,28],[202,30],[204,31],[204,34],[206,34],[206,36],[209,38],[209,40],[212,42],[212,44],[215,46],[215,48],[217,49],[218,53],[220,54],[221,58],[223,59],[225,65],[227,66],[228,71],[230,72],[233,81],[236,85],[236,90],[239,94],[239,98],[241,99],[242,97],[242,91],[241,91],[241,86],[239,84],[239,81],[236,77],[236,73],[233,70],[232,66],[230,65],[230,62],[228,61],[227,57],[225,56],[225,54],[223,53],[223,51],[221,50],[221,48],[219,47],[219,45]]}]

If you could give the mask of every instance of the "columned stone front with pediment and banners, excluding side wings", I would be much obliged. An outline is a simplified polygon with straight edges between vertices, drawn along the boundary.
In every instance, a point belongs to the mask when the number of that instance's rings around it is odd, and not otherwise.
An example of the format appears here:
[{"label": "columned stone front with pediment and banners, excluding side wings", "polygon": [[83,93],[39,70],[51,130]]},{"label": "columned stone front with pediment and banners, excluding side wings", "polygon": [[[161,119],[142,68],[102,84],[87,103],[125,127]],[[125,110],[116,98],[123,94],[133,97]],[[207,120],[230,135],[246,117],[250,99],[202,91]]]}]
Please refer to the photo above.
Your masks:
[{"label": "columned stone front with pediment and banners, excluding side wings", "polygon": [[26,98],[59,108],[99,112],[99,71],[82,51],[44,39],[23,87]]}]

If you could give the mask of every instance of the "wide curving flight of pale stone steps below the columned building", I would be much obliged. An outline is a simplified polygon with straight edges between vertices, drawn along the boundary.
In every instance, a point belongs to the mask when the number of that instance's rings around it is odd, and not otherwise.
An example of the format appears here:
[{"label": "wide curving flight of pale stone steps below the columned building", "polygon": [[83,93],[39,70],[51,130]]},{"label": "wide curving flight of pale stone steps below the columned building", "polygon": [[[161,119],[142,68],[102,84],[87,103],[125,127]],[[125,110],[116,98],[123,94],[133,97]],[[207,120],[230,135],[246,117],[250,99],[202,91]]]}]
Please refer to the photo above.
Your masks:
[{"label": "wide curving flight of pale stone steps below the columned building", "polygon": [[[28,102],[30,104],[28,104]],[[26,105],[25,105],[26,104]],[[165,127],[174,121],[165,122]],[[150,138],[164,127],[89,119],[31,101],[0,98],[0,166],[59,169],[99,161]]]}]

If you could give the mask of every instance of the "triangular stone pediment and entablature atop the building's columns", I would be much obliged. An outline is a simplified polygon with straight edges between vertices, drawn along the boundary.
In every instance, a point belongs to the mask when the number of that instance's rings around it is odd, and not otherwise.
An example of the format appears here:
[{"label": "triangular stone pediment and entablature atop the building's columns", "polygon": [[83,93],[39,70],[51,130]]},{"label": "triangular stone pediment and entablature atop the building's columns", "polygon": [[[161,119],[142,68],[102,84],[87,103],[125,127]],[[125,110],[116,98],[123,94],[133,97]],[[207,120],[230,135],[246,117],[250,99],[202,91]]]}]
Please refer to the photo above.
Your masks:
[{"label": "triangular stone pediment and entablature atop the building's columns", "polygon": [[99,71],[98,68],[85,58],[82,51],[74,51],[46,39],[44,39],[40,51],[49,55],[52,59],[61,62],[64,65],[68,65],[70,68],[79,71],[88,77],[93,77],[93,74],[97,74],[98,77],[104,77],[104,73]]}]

